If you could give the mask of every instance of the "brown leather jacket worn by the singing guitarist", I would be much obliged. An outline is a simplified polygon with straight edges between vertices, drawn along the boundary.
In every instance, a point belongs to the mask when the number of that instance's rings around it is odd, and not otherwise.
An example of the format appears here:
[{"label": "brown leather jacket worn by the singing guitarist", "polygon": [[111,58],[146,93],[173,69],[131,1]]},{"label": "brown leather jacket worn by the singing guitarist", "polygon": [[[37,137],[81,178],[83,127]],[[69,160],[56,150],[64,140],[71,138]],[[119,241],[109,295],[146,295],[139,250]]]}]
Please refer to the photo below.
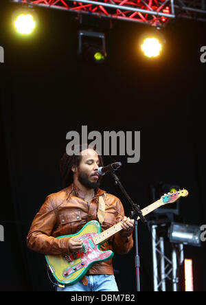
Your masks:
[{"label": "brown leather jacket worn by the singing guitarist", "polygon": [[[98,189],[90,205],[84,201],[73,185],[50,194],[45,199],[41,210],[36,214],[27,235],[27,246],[44,254],[71,254],[69,251],[69,238],[56,238],[75,234],[88,221],[97,219],[99,196],[103,195],[105,201],[105,218],[102,231],[115,223],[122,221],[124,208],[116,196]],[[112,250],[115,253],[128,253],[133,247],[132,233],[129,237],[123,236],[119,231],[101,246],[103,251]],[[93,264],[88,274],[113,274],[112,260]]]}]

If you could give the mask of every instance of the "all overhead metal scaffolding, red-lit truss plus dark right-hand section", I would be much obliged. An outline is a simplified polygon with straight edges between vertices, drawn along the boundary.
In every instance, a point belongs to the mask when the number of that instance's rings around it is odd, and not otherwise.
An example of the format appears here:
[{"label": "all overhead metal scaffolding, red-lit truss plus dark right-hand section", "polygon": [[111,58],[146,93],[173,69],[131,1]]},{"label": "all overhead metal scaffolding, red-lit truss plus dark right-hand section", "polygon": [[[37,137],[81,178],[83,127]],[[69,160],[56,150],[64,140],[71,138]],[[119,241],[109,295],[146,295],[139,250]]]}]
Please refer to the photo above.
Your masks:
[{"label": "all overhead metal scaffolding, red-lit truss plus dark right-hand section", "polygon": [[10,0],[15,3],[38,5],[89,14],[110,19],[146,23],[165,27],[170,20],[181,17],[206,21],[205,0]]}]

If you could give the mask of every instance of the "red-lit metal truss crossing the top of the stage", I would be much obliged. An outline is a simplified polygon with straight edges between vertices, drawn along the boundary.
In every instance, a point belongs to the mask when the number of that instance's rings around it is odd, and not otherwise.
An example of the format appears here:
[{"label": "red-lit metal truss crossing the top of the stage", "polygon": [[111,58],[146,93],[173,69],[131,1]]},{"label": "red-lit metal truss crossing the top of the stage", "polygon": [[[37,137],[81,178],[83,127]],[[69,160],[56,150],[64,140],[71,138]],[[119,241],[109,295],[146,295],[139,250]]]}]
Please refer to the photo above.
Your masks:
[{"label": "red-lit metal truss crossing the top of the stage", "polygon": [[12,2],[160,27],[175,17],[173,0],[12,0]]}]

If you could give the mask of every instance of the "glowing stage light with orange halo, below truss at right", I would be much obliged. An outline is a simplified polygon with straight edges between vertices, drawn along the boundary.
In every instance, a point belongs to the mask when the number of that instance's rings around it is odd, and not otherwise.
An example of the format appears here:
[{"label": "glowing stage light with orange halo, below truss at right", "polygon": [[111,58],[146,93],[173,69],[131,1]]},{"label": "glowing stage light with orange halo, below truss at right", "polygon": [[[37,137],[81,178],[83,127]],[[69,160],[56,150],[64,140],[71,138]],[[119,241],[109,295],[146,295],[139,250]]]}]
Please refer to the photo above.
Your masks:
[{"label": "glowing stage light with orange halo, below truss at right", "polygon": [[144,40],[141,45],[141,51],[147,57],[157,57],[161,52],[162,46],[158,39],[155,37],[148,37]]}]

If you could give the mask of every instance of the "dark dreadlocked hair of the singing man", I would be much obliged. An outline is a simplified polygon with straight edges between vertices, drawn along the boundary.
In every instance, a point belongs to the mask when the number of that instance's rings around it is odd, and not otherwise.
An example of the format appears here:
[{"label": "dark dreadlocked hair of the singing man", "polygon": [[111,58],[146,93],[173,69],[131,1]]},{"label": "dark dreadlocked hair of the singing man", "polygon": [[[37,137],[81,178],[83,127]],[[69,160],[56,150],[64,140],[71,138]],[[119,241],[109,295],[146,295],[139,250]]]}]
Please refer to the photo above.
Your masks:
[{"label": "dark dreadlocked hair of the singing man", "polygon": [[[76,145],[72,146],[71,152],[73,154],[70,154],[69,152],[64,153],[62,155],[62,158],[60,159],[60,174],[62,177],[62,188],[67,188],[67,186],[71,185],[73,182],[73,171],[71,168],[74,166],[74,168],[78,168],[80,161],[82,159],[82,155],[80,153],[82,150],[85,150],[89,148],[89,144],[82,144],[82,145]],[[98,151],[93,148],[93,150],[98,153]],[[69,153],[69,154],[68,154]],[[100,166],[104,166],[102,156],[98,154],[99,160],[100,160]]]}]

